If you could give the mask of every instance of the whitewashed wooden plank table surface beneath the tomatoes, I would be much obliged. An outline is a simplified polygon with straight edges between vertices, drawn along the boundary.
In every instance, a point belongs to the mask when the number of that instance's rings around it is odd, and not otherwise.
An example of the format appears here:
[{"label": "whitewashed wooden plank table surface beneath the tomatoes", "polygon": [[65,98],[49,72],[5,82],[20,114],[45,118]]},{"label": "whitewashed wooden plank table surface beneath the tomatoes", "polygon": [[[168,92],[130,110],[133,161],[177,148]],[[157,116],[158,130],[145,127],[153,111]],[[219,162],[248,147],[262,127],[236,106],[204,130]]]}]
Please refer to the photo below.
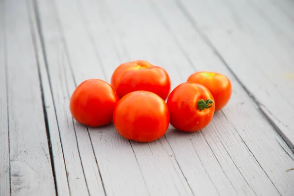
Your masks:
[{"label": "whitewashed wooden plank table surface beneath the tomatoes", "polygon": [[[148,144],[73,121],[76,85],[137,59],[230,102]],[[293,0],[0,0],[0,196],[294,196],[292,151]]]}]

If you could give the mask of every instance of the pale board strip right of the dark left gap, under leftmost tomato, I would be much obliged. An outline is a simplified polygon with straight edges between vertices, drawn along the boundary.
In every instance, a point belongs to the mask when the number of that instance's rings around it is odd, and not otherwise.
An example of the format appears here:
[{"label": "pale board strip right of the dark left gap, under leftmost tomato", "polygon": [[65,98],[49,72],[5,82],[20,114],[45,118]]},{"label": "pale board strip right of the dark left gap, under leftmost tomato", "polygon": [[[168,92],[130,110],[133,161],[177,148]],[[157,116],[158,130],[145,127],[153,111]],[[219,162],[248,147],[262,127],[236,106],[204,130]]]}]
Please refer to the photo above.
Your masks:
[{"label": "pale board strip right of the dark left gap, under leftmost tomato", "polygon": [[[54,2],[39,0],[36,6],[70,193],[72,196],[104,195],[87,128],[73,123],[69,110],[70,92],[74,84]],[[54,123],[56,119],[49,121]],[[87,179],[87,176],[91,178]],[[63,184],[59,180],[57,187]]]}]

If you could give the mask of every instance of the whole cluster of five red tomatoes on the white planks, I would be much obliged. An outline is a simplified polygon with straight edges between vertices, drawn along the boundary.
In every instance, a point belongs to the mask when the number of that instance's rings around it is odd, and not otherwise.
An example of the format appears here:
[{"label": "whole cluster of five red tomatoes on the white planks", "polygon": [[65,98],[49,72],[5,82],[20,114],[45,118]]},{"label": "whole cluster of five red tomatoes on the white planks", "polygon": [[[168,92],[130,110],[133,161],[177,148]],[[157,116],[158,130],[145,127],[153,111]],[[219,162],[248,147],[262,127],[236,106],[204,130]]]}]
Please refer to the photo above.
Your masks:
[{"label": "whole cluster of five red tomatoes on the white planks", "polygon": [[162,137],[170,123],[188,132],[207,126],[229,101],[232,87],[223,74],[196,72],[170,91],[163,68],[137,60],[120,65],[111,85],[100,79],[82,82],[73,92],[70,110],[79,123],[98,127],[113,121],[124,138],[151,142]]}]

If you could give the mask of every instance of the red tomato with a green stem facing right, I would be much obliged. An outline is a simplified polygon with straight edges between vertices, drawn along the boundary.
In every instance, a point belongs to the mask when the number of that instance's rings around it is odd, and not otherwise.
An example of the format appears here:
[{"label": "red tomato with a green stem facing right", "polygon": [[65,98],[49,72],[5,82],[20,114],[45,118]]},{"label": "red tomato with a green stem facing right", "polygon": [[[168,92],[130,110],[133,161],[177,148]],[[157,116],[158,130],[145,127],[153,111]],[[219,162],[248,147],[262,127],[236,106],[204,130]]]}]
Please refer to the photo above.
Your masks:
[{"label": "red tomato with a green stem facing right", "polygon": [[167,105],[172,126],[187,132],[204,128],[212,120],[215,111],[210,91],[205,86],[192,82],[175,87]]}]

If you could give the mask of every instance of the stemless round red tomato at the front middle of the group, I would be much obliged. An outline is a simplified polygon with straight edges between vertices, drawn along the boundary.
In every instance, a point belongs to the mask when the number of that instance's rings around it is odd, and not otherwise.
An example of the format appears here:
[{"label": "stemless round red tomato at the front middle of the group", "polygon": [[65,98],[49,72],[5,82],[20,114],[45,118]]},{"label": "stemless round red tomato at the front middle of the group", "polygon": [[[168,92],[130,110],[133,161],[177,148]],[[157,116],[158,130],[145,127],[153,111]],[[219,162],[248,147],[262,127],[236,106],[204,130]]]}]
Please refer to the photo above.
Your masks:
[{"label": "stemless round red tomato at the front middle of the group", "polygon": [[165,101],[148,91],[134,91],[117,103],[113,123],[126,139],[152,142],[168,130],[170,114]]}]

